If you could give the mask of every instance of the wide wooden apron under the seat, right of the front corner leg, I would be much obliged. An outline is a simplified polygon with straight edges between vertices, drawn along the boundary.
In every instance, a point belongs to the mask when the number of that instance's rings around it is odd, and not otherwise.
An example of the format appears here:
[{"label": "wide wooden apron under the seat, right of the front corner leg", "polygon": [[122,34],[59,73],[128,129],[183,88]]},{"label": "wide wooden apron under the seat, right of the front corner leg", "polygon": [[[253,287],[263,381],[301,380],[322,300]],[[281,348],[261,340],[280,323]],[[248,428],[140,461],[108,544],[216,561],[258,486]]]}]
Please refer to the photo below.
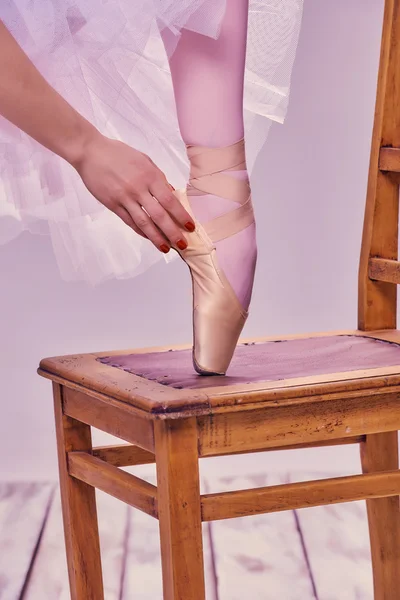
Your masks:
[{"label": "wide wooden apron under the seat, right of the front corner leg", "polygon": [[199,417],[200,456],[254,452],[400,429],[399,394]]}]

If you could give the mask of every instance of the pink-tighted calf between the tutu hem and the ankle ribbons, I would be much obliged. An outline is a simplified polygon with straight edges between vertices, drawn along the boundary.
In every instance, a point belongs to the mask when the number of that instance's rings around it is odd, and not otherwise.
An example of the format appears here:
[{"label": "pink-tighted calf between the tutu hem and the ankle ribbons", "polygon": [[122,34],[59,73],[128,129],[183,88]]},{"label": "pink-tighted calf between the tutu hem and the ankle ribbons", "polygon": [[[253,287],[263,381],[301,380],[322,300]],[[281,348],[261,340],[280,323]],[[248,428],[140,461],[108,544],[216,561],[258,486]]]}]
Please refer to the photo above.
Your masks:
[{"label": "pink-tighted calf between the tutu hem and the ankle ribbons", "polygon": [[248,0],[227,0],[217,40],[183,30],[170,60],[186,144],[228,146],[241,139]]}]

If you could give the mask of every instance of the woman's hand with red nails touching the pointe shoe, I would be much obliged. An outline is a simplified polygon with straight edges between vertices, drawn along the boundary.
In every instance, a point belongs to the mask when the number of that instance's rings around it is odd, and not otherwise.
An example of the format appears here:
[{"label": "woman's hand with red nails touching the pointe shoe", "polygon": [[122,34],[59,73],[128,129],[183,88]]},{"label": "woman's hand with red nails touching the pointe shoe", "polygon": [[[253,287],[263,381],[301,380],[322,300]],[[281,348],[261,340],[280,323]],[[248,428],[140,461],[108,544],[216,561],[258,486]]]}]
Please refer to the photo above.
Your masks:
[{"label": "woman's hand with red nails touching the pointe shoe", "polygon": [[194,231],[193,219],[146,154],[96,132],[73,165],[93,196],[156,248],[186,248],[182,228]]}]

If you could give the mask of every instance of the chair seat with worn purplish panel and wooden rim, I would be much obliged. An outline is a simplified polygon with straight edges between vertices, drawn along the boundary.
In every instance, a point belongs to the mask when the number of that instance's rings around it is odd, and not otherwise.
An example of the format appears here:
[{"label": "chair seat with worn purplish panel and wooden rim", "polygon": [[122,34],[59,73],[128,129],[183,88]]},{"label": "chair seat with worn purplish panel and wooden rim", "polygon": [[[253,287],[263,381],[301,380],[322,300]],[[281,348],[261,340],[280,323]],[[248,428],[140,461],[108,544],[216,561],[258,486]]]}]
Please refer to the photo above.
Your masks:
[{"label": "chair seat with worn purplish panel and wooden rim", "polygon": [[40,373],[153,413],[207,412],[400,384],[400,332],[342,331],[252,340],[226,376],[194,373],[191,349],[152,348],[48,358]]}]

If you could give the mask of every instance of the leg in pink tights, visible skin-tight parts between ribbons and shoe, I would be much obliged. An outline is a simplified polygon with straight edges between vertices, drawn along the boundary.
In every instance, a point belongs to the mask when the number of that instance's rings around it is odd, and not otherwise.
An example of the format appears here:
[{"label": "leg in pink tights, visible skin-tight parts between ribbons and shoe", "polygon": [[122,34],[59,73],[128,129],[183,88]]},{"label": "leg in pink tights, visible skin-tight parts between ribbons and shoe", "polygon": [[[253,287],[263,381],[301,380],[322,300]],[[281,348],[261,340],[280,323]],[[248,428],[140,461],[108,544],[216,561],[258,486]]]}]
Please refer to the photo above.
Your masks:
[{"label": "leg in pink tights, visible skin-tight parts between ribbons and shoe", "polygon": [[[248,8],[249,0],[227,0],[218,39],[183,30],[170,59],[182,138],[187,145],[201,146],[205,152],[231,146],[244,136]],[[245,164],[239,170],[235,165],[227,165],[226,169],[223,173],[230,178],[248,182]],[[229,197],[229,191],[226,195],[223,191],[211,193],[210,190],[205,194],[201,192],[201,185],[197,189],[200,195],[188,189],[190,205],[194,216],[203,224],[239,207]],[[213,241],[216,241],[219,265],[247,309],[257,256],[255,224],[231,237]]]}]

